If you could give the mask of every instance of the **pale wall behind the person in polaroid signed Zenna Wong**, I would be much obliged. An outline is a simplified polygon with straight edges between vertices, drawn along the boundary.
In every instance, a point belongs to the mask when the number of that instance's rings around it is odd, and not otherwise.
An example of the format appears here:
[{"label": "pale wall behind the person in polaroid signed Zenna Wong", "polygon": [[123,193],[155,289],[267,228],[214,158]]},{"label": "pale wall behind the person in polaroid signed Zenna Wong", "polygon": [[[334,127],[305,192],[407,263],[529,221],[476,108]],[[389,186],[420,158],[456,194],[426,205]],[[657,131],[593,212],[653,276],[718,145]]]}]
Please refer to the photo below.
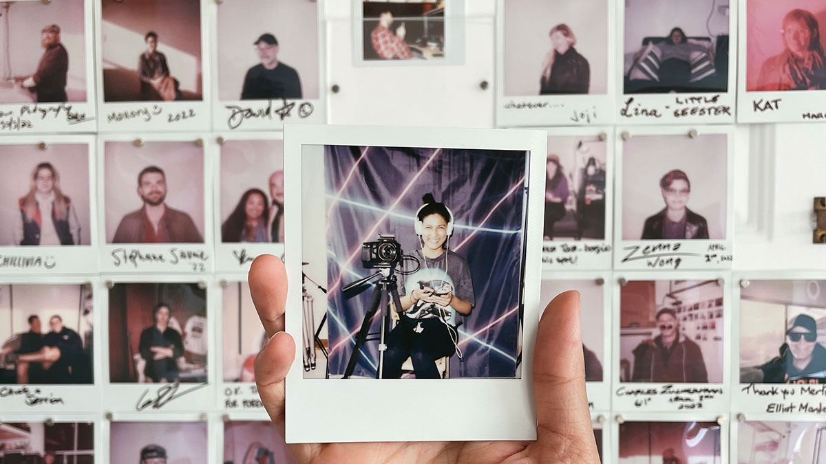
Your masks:
[{"label": "pale wall behind the person in polaroid signed Zenna Wong", "polygon": [[665,207],[660,178],[681,169],[691,181],[686,207],[705,217],[710,239],[726,235],[726,135],[635,135],[624,142],[622,238],[639,239],[645,219]]}]

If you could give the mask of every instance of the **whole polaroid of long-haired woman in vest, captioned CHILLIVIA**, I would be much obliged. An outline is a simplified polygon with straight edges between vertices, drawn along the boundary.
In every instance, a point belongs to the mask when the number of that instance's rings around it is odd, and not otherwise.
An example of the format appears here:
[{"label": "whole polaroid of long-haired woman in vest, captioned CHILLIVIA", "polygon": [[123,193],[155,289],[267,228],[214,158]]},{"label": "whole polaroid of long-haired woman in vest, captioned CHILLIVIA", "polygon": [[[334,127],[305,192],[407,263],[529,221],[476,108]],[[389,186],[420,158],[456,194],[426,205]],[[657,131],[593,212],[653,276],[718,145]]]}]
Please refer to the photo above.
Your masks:
[{"label": "whole polaroid of long-haired woman in vest, captioned CHILLIVIA", "polygon": [[92,146],[83,135],[0,140],[0,273],[97,272]]}]

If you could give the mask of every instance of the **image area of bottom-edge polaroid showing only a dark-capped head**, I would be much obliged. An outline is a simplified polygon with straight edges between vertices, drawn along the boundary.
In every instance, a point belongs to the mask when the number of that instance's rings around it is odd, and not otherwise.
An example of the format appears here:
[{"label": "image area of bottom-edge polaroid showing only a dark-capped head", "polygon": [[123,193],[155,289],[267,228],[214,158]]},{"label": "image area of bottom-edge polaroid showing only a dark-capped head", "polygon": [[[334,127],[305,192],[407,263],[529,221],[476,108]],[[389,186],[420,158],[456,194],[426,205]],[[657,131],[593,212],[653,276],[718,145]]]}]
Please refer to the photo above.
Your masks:
[{"label": "image area of bottom-edge polaroid showing only a dark-capped head", "polygon": [[112,422],[107,462],[209,462],[207,428],[206,422]]}]

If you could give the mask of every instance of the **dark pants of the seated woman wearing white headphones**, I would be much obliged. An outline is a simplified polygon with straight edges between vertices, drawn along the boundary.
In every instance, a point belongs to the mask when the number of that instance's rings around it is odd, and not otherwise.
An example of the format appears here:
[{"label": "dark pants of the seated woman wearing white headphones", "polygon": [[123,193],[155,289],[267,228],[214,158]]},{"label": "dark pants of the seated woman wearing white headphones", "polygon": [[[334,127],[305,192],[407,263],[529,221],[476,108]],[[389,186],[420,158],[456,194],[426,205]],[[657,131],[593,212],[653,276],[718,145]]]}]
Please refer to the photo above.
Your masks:
[{"label": "dark pants of the seated woman wearing white headphones", "polygon": [[[401,316],[406,317],[406,316]],[[421,324],[421,332],[415,332]],[[456,352],[448,328],[437,319],[407,319],[396,324],[387,335],[387,351],[384,353],[384,372],[382,377],[397,379],[401,377],[401,365],[408,357],[413,361],[413,372],[417,379],[438,379],[439,368],[436,360]]]}]

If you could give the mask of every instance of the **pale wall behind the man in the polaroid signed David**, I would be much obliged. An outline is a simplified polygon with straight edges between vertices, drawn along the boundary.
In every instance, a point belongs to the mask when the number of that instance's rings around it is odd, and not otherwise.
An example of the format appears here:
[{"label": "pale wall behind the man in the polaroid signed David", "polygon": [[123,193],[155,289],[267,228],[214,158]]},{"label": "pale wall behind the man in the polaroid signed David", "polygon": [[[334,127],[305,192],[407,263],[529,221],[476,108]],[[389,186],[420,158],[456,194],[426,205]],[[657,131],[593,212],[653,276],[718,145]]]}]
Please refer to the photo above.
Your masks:
[{"label": "pale wall behind the man in the polaroid signed David", "polygon": [[318,11],[311,0],[233,0],[218,4],[218,85],[221,100],[239,100],[247,69],[259,64],[253,42],[278,39],[278,60],[296,69],[305,99],[318,98]]}]

